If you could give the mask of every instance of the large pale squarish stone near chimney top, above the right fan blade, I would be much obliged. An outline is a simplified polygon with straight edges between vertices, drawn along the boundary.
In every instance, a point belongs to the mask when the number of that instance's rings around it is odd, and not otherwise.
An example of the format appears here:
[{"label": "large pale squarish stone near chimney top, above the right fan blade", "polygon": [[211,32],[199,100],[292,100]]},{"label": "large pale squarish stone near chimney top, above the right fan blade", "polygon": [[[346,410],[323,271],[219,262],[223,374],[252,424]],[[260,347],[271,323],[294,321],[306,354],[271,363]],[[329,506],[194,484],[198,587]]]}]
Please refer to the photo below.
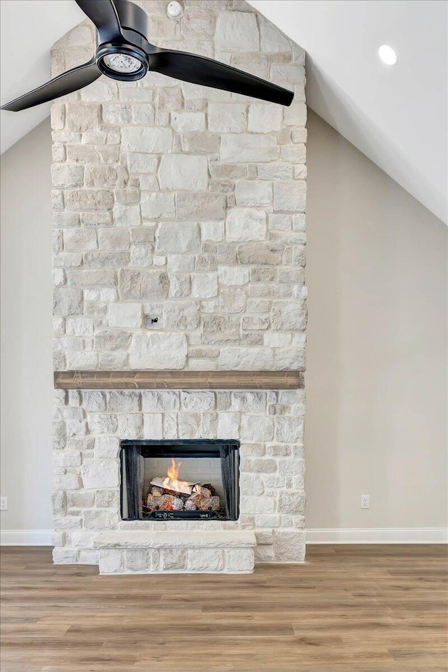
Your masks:
[{"label": "large pale squarish stone near chimney top, above the right fan blade", "polygon": [[255,14],[248,12],[220,12],[216,21],[215,49],[217,51],[258,51],[258,34]]}]

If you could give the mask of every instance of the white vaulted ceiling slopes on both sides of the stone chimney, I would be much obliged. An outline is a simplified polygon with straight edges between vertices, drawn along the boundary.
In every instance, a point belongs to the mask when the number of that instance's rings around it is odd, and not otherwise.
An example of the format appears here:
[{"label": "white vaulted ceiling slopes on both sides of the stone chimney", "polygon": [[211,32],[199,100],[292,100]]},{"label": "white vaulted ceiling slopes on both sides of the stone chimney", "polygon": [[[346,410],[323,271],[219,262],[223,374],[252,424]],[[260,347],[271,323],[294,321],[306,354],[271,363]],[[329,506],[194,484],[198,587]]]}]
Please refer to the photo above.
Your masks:
[{"label": "white vaulted ceiling slopes on both sides of the stone chimney", "polygon": [[[447,221],[447,3],[251,4],[307,50],[309,106]],[[0,11],[5,103],[49,78],[52,43],[85,17],[71,0],[0,0]],[[379,62],[381,43],[397,50],[397,65]],[[43,105],[20,113],[1,112],[1,151],[38,125],[49,109]]]}]

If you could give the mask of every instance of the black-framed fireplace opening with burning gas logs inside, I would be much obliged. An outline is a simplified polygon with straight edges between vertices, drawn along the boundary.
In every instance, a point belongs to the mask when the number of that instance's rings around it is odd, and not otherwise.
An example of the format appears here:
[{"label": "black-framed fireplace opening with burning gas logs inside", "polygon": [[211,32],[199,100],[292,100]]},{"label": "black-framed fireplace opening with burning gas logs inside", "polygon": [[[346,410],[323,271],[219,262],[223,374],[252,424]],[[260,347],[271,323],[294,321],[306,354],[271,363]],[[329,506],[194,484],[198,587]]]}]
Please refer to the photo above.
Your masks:
[{"label": "black-framed fireplace opening with burning gas logs inside", "polygon": [[237,520],[239,441],[121,442],[123,520]]}]

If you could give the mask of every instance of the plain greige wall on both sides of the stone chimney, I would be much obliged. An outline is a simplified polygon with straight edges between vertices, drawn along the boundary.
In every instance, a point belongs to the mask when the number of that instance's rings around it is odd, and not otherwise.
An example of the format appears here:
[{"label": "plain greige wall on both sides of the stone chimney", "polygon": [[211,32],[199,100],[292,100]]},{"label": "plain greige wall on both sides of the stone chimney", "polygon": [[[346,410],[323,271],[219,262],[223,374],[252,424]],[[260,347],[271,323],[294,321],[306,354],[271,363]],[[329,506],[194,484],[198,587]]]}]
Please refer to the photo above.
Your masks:
[{"label": "plain greige wall on both sides of the stone chimney", "polygon": [[[2,164],[1,518],[50,529],[48,121]],[[307,527],[446,526],[448,229],[311,112],[308,164]]]}]

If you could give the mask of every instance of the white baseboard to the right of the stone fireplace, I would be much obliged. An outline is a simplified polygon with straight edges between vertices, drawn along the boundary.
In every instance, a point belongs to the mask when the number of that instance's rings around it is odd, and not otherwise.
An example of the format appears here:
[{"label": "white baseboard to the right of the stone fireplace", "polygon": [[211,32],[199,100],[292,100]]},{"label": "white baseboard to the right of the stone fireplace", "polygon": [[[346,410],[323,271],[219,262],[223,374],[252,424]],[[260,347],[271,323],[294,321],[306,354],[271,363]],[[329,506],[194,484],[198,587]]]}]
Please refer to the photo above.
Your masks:
[{"label": "white baseboard to the right of the stone fireplace", "polygon": [[446,544],[446,527],[307,530],[307,544]]}]

